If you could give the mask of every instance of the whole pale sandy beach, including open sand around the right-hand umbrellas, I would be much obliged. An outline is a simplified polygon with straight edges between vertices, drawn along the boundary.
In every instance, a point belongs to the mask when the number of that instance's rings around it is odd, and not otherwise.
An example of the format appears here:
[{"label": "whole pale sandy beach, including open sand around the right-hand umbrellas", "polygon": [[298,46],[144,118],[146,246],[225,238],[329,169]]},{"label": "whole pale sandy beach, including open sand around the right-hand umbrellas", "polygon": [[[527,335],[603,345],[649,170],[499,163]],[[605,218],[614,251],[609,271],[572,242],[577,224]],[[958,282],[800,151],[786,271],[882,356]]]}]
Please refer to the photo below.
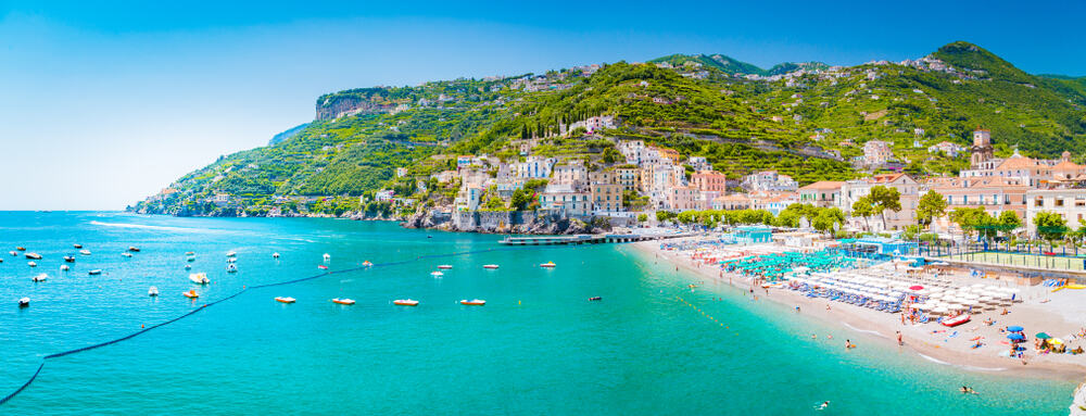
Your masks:
[{"label": "whole pale sandy beach, including open sand around the right-hand umbrellas", "polygon": [[[690,251],[660,250],[657,241],[633,243],[635,249],[646,259],[659,259],[677,265],[680,269],[695,274],[699,278],[731,285],[743,291],[750,288],[750,279],[740,274],[721,272],[720,268],[699,264],[691,259]],[[973,283],[969,278],[955,277],[955,282]],[[982,279],[973,279],[975,282]],[[794,311],[799,306],[803,314],[821,319],[832,325],[847,327],[851,330],[877,335],[881,342],[891,348],[897,345],[897,331],[902,335],[904,346],[921,356],[940,364],[951,365],[969,371],[983,371],[1000,375],[1026,376],[1082,381],[1086,377],[1086,355],[1071,354],[1037,354],[1032,341],[1026,343],[1028,351],[1025,360],[999,356],[1000,352],[1010,346],[1006,333],[999,329],[1009,325],[1026,328],[1033,333],[1045,331],[1055,337],[1063,338],[1077,333],[1086,326],[1086,292],[1078,290],[1062,290],[1051,293],[1043,287],[1021,287],[1023,290],[1021,303],[1014,303],[1008,315],[999,312],[987,312],[976,315],[969,324],[954,329],[938,324],[901,324],[900,314],[891,314],[861,307],[843,302],[831,302],[822,298],[807,298],[798,291],[787,289],[756,288],[759,300],[768,300],[780,304],[781,313]],[[698,290],[712,290],[703,287]],[[829,308],[826,306],[830,306]],[[993,318],[995,324],[984,325],[982,320]],[[948,335],[955,330],[956,337]],[[936,332],[933,332],[936,331]],[[796,333],[797,337],[810,337],[810,333]],[[822,336],[822,335],[820,335]],[[983,346],[972,349],[975,337],[983,337]],[[1066,338],[1064,338],[1066,339]],[[1069,342],[1069,348],[1083,345],[1084,340]],[[862,348],[863,345],[859,345]],[[1006,352],[1003,353],[1006,354]],[[1023,364],[1023,362],[1025,364]]]}]

